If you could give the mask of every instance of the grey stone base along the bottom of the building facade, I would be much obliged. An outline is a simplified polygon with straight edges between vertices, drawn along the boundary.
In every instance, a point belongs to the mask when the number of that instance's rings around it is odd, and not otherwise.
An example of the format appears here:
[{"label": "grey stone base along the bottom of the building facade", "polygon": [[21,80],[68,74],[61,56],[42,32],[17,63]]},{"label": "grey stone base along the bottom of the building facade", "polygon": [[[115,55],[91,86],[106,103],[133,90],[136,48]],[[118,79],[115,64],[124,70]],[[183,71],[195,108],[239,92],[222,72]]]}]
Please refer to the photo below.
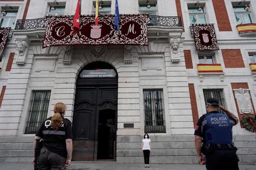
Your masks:
[{"label": "grey stone base along the bottom of the building facade", "polygon": [[[150,163],[197,164],[194,136],[150,136]],[[143,163],[142,136],[117,136],[116,161]],[[236,135],[239,164],[255,164],[255,135]],[[0,137],[0,162],[30,162],[33,155],[33,136]]]}]

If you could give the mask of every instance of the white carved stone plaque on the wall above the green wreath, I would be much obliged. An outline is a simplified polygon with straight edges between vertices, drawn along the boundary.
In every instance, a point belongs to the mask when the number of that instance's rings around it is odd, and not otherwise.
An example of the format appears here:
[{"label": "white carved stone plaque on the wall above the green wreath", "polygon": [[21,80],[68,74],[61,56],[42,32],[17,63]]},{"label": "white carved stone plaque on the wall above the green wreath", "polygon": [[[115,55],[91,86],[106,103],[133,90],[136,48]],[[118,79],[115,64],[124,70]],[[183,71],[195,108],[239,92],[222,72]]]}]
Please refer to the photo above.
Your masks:
[{"label": "white carved stone plaque on the wall above the green wreath", "polygon": [[254,113],[252,108],[252,100],[250,100],[249,89],[234,89],[237,105],[241,114],[243,113]]}]

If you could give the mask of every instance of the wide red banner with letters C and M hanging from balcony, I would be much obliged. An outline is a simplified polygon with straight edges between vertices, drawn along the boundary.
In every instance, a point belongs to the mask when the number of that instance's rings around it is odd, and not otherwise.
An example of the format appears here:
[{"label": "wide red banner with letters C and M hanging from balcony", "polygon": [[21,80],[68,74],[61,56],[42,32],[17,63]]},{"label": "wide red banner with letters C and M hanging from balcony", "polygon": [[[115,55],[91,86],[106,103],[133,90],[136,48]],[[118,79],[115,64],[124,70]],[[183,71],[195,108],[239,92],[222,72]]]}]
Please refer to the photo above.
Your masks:
[{"label": "wide red banner with letters C and M hanging from balcony", "polygon": [[148,15],[121,15],[119,30],[114,28],[114,16],[100,16],[98,25],[92,16],[80,17],[80,31],[72,34],[73,17],[46,17],[43,47],[72,44],[148,45]]}]

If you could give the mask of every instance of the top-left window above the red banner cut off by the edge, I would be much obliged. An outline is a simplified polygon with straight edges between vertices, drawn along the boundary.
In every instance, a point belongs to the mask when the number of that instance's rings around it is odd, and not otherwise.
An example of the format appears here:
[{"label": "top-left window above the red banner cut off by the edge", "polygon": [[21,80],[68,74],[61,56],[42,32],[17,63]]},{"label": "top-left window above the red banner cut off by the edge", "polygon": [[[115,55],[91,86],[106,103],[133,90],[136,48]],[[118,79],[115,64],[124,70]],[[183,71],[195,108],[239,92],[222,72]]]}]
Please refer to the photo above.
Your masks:
[{"label": "top-left window above the red banner cut off by the edge", "polygon": [[1,27],[11,27],[12,29],[15,28],[16,17],[17,17],[18,9],[12,7],[10,10],[6,10],[6,15],[1,15]]}]

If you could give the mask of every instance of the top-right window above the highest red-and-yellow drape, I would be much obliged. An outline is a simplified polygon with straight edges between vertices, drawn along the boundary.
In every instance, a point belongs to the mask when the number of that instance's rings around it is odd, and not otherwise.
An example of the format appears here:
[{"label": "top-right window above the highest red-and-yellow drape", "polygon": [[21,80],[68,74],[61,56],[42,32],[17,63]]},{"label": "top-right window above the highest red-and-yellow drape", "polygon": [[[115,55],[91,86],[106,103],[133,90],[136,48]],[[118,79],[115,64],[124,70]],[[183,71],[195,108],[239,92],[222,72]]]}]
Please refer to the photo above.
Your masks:
[{"label": "top-right window above the highest red-and-yellow drape", "polygon": [[233,10],[236,16],[237,25],[252,23],[252,18],[250,17],[250,11],[245,10],[244,6],[233,6]]}]

